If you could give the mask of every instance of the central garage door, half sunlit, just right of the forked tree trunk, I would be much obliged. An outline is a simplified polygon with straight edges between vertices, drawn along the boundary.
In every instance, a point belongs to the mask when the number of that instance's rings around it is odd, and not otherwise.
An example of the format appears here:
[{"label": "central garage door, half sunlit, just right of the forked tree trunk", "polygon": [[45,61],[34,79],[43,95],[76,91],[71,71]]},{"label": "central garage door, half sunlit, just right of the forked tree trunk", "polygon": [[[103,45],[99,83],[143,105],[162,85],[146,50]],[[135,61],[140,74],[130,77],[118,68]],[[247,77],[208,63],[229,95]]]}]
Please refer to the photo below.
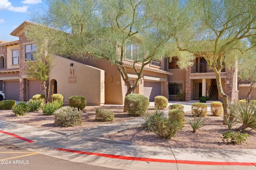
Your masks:
[{"label": "central garage door, half sunlit, just right of the forked tree trunk", "polygon": [[147,82],[144,81],[144,96],[150,102],[154,102],[156,96],[161,95],[161,82]]}]

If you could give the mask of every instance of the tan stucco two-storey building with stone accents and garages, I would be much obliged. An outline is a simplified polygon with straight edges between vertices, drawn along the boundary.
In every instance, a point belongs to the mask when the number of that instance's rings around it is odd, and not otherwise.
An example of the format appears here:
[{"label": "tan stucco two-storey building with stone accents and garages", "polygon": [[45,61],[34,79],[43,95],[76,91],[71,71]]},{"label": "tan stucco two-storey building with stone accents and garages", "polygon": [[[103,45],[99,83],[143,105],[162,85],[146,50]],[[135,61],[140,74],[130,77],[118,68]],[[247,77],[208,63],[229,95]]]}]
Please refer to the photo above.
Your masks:
[{"label": "tan stucco two-storey building with stone accents and garages", "polygon": [[[6,94],[6,100],[27,101],[34,94],[42,93],[38,80],[28,79],[24,70],[28,66],[26,60],[32,59],[31,53],[36,43],[26,39],[23,33],[24,21],[11,35],[19,38],[17,41],[0,40],[0,90]],[[163,58],[145,66],[142,79],[133,93],[143,94],[150,101],[161,95],[169,100],[178,100],[176,94],[184,94],[184,100],[199,99],[200,96],[210,96],[212,100],[221,100],[216,94],[216,76],[207,69],[207,64],[200,58],[186,70],[180,70],[175,57]],[[132,68],[132,62],[124,61],[126,70],[133,85],[137,75]],[[140,64],[136,65],[140,68]],[[238,98],[236,70],[223,70],[221,74],[223,88],[232,99]],[[88,105],[123,104],[126,85],[116,66],[105,59],[91,60],[66,59],[54,56],[54,68],[48,81],[50,94],[59,93],[64,96],[64,104],[74,95],[84,96]]]}]

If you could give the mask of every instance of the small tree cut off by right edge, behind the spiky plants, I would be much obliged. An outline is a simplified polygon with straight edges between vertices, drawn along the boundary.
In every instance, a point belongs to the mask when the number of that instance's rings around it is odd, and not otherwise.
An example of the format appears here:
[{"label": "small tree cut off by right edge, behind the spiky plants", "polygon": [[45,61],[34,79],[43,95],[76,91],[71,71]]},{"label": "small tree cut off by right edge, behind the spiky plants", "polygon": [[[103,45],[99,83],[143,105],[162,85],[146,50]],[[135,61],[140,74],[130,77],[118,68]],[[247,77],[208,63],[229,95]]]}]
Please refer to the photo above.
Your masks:
[{"label": "small tree cut off by right edge, behind the spiky plants", "polygon": [[252,92],[252,88],[256,85],[256,51],[250,50],[244,53],[243,57],[238,61],[238,77],[242,82],[250,83],[246,101]]}]

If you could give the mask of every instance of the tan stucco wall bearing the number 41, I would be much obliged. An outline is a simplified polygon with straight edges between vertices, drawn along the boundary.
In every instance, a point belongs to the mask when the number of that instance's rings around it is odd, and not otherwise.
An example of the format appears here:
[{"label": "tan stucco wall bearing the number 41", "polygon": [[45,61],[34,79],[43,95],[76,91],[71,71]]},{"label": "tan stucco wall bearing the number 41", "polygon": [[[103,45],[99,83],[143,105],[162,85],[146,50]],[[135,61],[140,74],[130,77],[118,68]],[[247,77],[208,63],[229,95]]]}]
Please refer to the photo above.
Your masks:
[{"label": "tan stucco wall bearing the number 41", "polygon": [[54,57],[54,64],[49,81],[57,81],[57,93],[64,96],[64,105],[68,105],[68,98],[75,95],[84,96],[87,105],[105,103],[104,70],[59,56]]}]

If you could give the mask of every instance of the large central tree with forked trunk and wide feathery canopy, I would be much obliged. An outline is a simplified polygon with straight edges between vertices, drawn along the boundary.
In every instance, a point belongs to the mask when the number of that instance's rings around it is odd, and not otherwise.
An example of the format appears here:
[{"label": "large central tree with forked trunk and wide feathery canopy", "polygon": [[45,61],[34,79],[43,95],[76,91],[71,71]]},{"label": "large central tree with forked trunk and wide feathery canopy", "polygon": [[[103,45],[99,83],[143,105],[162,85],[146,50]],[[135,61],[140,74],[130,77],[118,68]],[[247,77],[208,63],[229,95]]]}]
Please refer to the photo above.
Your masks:
[{"label": "large central tree with forked trunk and wide feathery canopy", "polygon": [[[55,49],[49,53],[107,59],[120,72],[128,95],[137,88],[144,66],[165,56],[172,30],[159,20],[167,6],[174,23],[185,14],[176,0],[48,0],[45,13],[33,20],[47,27],[33,25],[37,28],[28,31],[34,31],[34,41],[52,43]],[[138,76],[133,87],[125,67],[127,55]]]}]

